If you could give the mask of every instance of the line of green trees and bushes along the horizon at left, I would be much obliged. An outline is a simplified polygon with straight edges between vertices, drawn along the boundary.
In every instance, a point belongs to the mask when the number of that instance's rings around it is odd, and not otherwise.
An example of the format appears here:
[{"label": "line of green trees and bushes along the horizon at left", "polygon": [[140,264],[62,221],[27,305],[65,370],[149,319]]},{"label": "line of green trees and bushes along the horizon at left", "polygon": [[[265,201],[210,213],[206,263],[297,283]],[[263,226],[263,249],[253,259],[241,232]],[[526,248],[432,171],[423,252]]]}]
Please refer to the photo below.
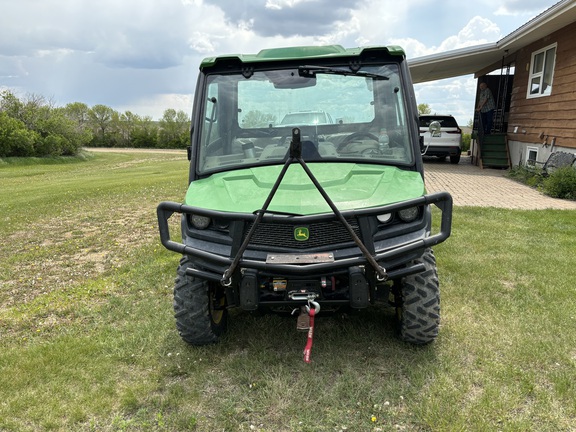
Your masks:
[{"label": "line of green trees and bushes along the horizon at left", "polygon": [[0,158],[72,156],[82,147],[185,148],[190,118],[167,109],[159,121],[106,105],[57,107],[43,96],[0,92]]}]

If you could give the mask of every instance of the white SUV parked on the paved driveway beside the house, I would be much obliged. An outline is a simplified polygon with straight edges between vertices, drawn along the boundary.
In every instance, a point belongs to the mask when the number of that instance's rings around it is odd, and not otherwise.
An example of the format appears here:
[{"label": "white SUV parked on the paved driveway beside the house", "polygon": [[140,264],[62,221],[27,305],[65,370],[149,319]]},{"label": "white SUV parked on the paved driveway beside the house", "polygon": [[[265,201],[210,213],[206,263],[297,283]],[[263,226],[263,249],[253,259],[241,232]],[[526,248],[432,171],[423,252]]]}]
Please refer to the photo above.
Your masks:
[{"label": "white SUV parked on the paved driveway beside the house", "polygon": [[[434,122],[438,122],[439,127],[434,127]],[[430,125],[433,127],[430,128]],[[451,163],[460,162],[462,129],[451,115],[421,115],[420,136],[424,137],[424,156],[450,156]]]}]

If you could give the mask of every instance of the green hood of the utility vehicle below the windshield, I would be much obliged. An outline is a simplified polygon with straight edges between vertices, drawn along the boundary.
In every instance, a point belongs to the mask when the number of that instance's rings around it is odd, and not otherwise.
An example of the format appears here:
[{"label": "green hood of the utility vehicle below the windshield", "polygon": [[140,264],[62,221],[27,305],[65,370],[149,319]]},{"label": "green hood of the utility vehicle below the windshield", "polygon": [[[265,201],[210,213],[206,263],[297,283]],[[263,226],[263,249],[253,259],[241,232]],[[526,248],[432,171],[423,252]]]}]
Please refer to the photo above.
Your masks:
[{"label": "green hood of the utility vehicle below the windshield", "polygon": [[[376,207],[417,198],[425,193],[419,172],[355,163],[310,163],[314,176],[339,210]],[[282,166],[265,166],[214,174],[194,181],[185,204],[226,212],[261,209]],[[268,210],[297,215],[331,212],[299,164],[292,164]]]}]

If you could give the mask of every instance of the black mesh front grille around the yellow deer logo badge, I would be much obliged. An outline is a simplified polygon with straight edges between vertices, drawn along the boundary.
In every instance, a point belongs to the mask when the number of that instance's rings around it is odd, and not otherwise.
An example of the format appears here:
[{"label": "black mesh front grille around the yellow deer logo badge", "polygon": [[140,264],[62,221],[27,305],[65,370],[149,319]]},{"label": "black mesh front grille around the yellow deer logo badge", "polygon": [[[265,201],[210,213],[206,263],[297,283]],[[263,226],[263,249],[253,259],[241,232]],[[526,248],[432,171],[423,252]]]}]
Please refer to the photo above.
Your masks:
[{"label": "black mesh front grille around the yellow deer logo badge", "polygon": [[[360,228],[355,218],[348,218],[350,224],[358,237]],[[252,224],[249,224],[244,231],[244,238],[250,231]],[[298,241],[294,238],[294,230],[297,228],[307,228],[308,240]],[[287,224],[287,223],[260,223],[256,232],[250,240],[250,246],[261,246],[270,248],[289,249],[315,249],[334,247],[343,244],[353,243],[354,240],[340,221],[316,222],[311,224]]]}]

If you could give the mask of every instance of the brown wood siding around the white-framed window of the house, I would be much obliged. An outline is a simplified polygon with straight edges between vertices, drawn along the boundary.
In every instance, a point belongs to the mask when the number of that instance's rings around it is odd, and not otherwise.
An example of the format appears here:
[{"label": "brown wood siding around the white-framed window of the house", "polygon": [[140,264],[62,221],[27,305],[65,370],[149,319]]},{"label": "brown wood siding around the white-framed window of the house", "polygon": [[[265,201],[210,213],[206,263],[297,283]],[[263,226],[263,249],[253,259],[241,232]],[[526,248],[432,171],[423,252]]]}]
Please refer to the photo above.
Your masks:
[{"label": "brown wood siding around the white-framed window of the house", "polygon": [[[576,23],[552,33],[516,53],[514,84],[508,118],[508,136],[512,140],[576,148]],[[528,78],[532,53],[557,43],[556,63],[550,96],[528,99]],[[518,128],[517,133],[514,129]],[[523,133],[522,131],[526,131]]]}]

